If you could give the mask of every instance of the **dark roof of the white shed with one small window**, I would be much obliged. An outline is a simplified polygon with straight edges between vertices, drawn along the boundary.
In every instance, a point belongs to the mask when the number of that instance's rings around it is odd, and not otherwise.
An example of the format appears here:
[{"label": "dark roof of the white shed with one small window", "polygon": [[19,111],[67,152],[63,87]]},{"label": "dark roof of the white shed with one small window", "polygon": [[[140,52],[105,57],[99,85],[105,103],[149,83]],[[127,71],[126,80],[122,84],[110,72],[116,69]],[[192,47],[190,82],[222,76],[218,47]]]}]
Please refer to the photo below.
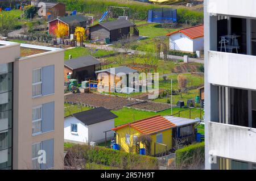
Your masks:
[{"label": "dark roof of the white shed with one small window", "polygon": [[102,121],[114,119],[118,117],[104,107],[98,107],[92,110],[83,111],[73,114],[76,119],[82,121],[86,125],[100,123]]}]

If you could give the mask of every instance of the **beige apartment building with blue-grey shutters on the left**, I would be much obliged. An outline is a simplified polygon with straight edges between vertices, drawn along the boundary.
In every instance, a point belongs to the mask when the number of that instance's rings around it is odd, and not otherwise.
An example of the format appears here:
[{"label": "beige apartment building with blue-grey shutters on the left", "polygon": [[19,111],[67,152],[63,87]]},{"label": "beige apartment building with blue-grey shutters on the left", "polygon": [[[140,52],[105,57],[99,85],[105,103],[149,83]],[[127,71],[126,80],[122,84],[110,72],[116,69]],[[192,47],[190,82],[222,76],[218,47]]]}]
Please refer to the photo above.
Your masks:
[{"label": "beige apartment building with blue-grey shutters on the left", "polygon": [[0,169],[63,169],[63,71],[62,49],[0,41]]}]

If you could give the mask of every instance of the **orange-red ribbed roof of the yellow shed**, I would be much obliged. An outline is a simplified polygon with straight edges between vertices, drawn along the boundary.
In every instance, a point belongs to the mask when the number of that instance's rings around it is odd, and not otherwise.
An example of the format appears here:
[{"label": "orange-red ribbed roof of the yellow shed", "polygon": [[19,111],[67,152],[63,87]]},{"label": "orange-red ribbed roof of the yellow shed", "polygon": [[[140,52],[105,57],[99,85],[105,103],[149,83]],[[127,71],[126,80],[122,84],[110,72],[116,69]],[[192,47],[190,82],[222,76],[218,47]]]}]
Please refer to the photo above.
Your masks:
[{"label": "orange-red ribbed roof of the yellow shed", "polygon": [[118,129],[129,125],[130,127],[133,127],[142,134],[154,134],[176,127],[175,124],[171,123],[163,116],[158,115],[149,117],[147,119],[135,121],[134,123],[120,125],[119,127],[113,128],[112,130],[117,131]]}]

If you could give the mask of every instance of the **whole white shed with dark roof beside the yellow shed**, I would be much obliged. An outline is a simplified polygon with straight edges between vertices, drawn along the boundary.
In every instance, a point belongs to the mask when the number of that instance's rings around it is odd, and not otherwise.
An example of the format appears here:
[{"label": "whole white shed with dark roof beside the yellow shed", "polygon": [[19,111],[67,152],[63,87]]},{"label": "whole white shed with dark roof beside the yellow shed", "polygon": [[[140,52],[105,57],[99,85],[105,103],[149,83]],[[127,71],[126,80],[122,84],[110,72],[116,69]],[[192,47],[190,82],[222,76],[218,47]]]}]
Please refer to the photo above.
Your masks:
[{"label": "whole white shed with dark roof beside the yellow shed", "polygon": [[[104,142],[114,137],[114,119],[117,115],[104,107],[83,111],[65,117],[64,141],[78,144]],[[109,132],[106,132],[109,131]],[[106,135],[105,135],[106,132]]]}]

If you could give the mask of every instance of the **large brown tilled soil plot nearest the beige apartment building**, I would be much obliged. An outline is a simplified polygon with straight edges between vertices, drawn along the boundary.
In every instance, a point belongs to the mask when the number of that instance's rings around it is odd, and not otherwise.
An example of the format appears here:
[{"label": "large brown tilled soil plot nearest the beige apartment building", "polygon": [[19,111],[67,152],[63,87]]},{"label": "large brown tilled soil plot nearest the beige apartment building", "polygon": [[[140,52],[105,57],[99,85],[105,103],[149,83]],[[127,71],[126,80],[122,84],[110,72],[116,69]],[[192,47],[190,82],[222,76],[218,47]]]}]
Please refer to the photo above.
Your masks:
[{"label": "large brown tilled soil plot nearest the beige apartment building", "polygon": [[123,108],[123,106],[136,103],[137,101],[96,93],[79,93],[66,95],[65,102],[82,103],[95,107],[105,107],[109,110],[118,110]]}]

